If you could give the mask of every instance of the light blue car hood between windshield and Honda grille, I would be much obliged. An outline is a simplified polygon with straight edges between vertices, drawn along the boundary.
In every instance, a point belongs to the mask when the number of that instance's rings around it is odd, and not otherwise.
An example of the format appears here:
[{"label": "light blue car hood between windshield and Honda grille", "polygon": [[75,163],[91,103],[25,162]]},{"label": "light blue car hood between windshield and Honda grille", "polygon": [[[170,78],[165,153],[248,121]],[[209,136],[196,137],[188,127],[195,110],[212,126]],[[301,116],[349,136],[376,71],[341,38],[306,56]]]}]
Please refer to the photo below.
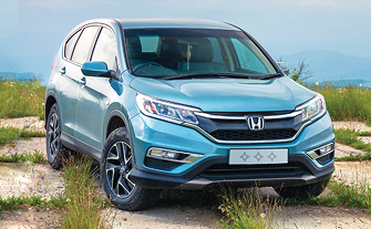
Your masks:
[{"label": "light blue car hood between windshield and Honda grille", "polygon": [[316,94],[287,76],[271,80],[134,77],[131,87],[204,112],[292,111]]}]

